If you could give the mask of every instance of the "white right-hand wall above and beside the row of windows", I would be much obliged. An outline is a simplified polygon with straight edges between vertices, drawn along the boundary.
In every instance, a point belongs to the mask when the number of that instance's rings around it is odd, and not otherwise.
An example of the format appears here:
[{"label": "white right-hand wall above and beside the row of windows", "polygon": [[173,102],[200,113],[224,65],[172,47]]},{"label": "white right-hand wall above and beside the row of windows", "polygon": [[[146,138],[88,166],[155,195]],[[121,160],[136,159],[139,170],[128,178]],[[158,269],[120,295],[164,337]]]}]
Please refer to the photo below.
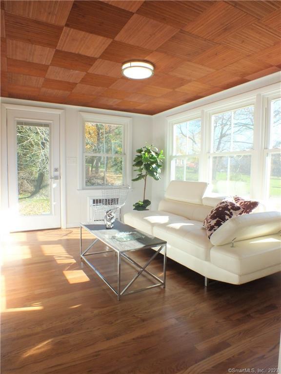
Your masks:
[{"label": "white right-hand wall above and beside the row of windows", "polygon": [[210,104],[217,105],[219,102],[223,102],[223,100],[227,99],[240,99],[241,96],[249,95],[251,96],[253,93],[257,94],[259,92],[264,92],[268,89],[270,91],[270,87],[278,86],[281,82],[281,73],[274,73],[271,75],[267,75],[265,77],[253,80],[251,82],[247,82],[241,84],[240,86],[230,88],[228,90],[215,93],[213,95],[203,97],[199,100],[193,101],[188,104],[181,105],[180,107],[173,108],[169,111],[162,112],[153,116],[153,143],[157,145],[157,147],[164,150],[164,154],[166,156],[165,168],[162,170],[161,180],[160,181],[153,181],[152,182],[152,209],[157,209],[160,200],[164,196],[164,192],[166,190],[167,185],[169,184],[169,175],[168,175],[168,156],[169,156],[169,134],[168,134],[168,119],[172,115],[177,115],[181,113],[188,113],[188,111],[196,110],[200,111],[206,106]]}]

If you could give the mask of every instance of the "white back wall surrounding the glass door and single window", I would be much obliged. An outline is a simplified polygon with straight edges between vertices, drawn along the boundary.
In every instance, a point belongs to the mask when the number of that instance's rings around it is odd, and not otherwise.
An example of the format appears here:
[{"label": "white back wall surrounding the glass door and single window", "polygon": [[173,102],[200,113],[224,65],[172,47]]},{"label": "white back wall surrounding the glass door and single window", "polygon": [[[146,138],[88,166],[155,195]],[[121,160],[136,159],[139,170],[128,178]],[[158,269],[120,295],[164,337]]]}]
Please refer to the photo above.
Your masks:
[{"label": "white back wall surrounding the glass door and single window", "polygon": [[[132,118],[132,153],[129,163],[132,164],[135,150],[152,142],[152,116],[134,114],[127,112],[106,111],[85,107],[74,107],[69,105],[35,102],[30,100],[2,98],[1,103],[26,105],[42,108],[56,108],[65,111],[65,159],[66,159],[66,225],[67,227],[77,226],[79,222],[87,221],[88,196],[95,196],[99,192],[95,190],[78,189],[78,164],[79,160],[79,112],[93,112],[100,114],[121,115]],[[76,165],[68,165],[69,157],[76,158]],[[133,176],[135,173],[133,173]],[[6,178],[5,175],[1,176]],[[143,181],[132,182],[132,190],[123,212],[131,210],[133,203],[142,200]],[[147,186],[146,197],[151,200],[151,182]]]}]

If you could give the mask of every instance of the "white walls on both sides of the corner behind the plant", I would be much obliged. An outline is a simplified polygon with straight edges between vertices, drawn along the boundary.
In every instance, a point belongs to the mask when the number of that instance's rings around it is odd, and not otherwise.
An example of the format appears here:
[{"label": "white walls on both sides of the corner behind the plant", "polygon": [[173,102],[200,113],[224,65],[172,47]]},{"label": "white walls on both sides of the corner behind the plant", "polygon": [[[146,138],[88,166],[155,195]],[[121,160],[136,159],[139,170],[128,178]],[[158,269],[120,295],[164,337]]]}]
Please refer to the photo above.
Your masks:
[{"label": "white walls on both sides of the corner behind the plant", "polygon": [[[255,90],[264,90],[270,85],[278,84],[281,81],[281,74],[275,73],[255,81],[244,83],[240,86],[225,90],[214,95],[204,97],[192,103],[173,108],[169,111],[156,114],[154,116],[134,114],[127,112],[106,111],[101,109],[75,107],[69,105],[42,103],[30,100],[2,98],[1,102],[6,104],[27,105],[43,108],[56,108],[65,111],[65,157],[77,158],[76,165],[66,163],[66,223],[67,226],[78,225],[79,222],[87,220],[88,196],[95,196],[97,190],[79,190],[78,189],[78,163],[79,163],[79,112],[93,112],[100,114],[121,115],[132,118],[132,154],[129,162],[132,163],[135,150],[142,147],[145,143],[153,143],[159,149],[163,149],[166,155],[165,166],[162,169],[161,180],[149,180],[147,186],[147,198],[152,201],[152,209],[157,209],[159,201],[164,196],[169,175],[167,173],[168,165],[168,117],[182,112],[187,112],[194,108],[203,108],[203,106],[216,103],[227,98],[236,99],[240,95],[251,95]],[[133,174],[134,175],[134,174]],[[5,175],[1,175],[5,178]],[[132,190],[129,194],[127,204],[123,212],[131,210],[132,204],[142,199],[143,181],[132,182]]]}]

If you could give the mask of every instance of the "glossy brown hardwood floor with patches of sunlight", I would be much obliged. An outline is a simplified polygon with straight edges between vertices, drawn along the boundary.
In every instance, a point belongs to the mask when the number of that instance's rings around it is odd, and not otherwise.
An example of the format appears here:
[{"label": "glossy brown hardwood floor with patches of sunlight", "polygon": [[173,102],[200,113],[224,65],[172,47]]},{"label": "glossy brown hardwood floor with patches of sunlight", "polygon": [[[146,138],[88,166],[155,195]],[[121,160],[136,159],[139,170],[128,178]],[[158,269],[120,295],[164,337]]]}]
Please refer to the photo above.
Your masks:
[{"label": "glossy brown hardwood floor with patches of sunlight", "polygon": [[[134,256],[144,263],[150,254]],[[114,255],[95,260],[114,281]],[[122,268],[125,283],[135,270]],[[162,257],[150,269],[160,275]],[[203,277],[168,260],[165,290],[118,302],[81,264],[79,229],[11,234],[3,250],[2,374],[267,373],[278,365],[280,288],[274,274],[207,291]]]}]

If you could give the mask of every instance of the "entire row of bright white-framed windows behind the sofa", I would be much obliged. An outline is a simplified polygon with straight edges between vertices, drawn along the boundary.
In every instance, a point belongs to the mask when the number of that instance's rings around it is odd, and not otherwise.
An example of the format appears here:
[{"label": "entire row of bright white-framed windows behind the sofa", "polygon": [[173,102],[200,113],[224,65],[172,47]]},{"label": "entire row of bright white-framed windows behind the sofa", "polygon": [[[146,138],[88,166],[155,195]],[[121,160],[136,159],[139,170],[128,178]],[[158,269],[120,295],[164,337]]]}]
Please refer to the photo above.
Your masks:
[{"label": "entire row of bright white-framed windows behind the sofa", "polygon": [[281,209],[280,83],[167,119],[170,180],[204,181],[208,193]]}]

